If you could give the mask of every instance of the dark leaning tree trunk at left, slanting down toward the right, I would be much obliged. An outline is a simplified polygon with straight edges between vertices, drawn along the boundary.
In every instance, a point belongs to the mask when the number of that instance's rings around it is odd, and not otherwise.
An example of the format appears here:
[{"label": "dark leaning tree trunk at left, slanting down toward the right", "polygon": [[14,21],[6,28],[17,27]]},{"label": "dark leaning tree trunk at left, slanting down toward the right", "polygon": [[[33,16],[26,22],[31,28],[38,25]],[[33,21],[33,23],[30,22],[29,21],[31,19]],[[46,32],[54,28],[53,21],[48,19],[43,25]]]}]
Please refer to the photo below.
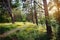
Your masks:
[{"label": "dark leaning tree trunk at left, slanting down toward the right", "polygon": [[10,0],[2,0],[3,6],[6,8],[6,10],[8,11],[12,23],[14,23],[14,16],[12,15],[12,11],[11,11],[11,6],[10,6]]}]

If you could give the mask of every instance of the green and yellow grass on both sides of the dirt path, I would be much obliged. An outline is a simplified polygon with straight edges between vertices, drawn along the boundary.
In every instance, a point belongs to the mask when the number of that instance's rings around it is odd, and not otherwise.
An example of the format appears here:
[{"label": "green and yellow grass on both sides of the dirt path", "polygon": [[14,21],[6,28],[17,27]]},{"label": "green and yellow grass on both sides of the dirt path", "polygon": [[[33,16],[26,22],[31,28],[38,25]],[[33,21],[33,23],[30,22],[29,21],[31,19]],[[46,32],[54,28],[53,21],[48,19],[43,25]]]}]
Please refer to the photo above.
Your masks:
[{"label": "green and yellow grass on both sides of the dirt path", "polygon": [[[2,26],[3,25],[3,26]],[[21,27],[24,26],[24,27]],[[16,31],[13,34],[8,35],[5,38],[2,38],[2,40],[12,40],[12,39],[17,39],[17,40],[47,40],[47,35],[45,34],[43,27],[39,29],[35,24],[29,23],[29,22],[24,22],[24,23],[15,23],[15,24],[0,24],[0,32],[4,33],[6,31],[12,30],[14,28],[23,28],[20,31]],[[43,29],[43,30],[42,30]],[[42,30],[42,31],[40,31]]]}]

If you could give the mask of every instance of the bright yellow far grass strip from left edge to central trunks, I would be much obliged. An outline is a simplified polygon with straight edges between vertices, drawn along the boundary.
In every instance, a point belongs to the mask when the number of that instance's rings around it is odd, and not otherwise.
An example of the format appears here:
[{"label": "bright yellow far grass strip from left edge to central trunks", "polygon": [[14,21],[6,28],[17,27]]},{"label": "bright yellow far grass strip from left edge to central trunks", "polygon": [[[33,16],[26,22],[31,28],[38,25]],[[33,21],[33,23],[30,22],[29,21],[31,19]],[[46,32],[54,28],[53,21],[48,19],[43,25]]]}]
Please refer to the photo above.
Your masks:
[{"label": "bright yellow far grass strip from left edge to central trunks", "polygon": [[36,24],[30,23],[30,22],[15,22],[14,24],[12,24],[12,23],[0,23],[0,25],[14,25],[17,27],[23,27],[23,26],[33,27],[33,26],[36,26]]}]

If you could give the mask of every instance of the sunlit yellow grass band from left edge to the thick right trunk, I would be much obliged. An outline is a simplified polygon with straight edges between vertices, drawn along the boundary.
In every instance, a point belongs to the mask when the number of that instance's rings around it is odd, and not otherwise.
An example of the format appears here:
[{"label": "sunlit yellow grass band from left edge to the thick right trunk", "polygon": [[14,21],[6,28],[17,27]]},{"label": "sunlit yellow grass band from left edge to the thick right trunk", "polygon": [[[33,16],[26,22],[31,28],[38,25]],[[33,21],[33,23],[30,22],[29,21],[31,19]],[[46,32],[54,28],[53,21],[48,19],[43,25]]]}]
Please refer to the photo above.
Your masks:
[{"label": "sunlit yellow grass band from left edge to the thick right trunk", "polygon": [[20,28],[20,30],[25,30],[27,32],[32,31],[32,30],[37,30],[39,33],[45,33],[46,32],[46,27],[41,26],[41,25],[36,25],[31,22],[15,22],[14,24],[12,23],[0,23],[0,27],[13,27],[15,28]]}]

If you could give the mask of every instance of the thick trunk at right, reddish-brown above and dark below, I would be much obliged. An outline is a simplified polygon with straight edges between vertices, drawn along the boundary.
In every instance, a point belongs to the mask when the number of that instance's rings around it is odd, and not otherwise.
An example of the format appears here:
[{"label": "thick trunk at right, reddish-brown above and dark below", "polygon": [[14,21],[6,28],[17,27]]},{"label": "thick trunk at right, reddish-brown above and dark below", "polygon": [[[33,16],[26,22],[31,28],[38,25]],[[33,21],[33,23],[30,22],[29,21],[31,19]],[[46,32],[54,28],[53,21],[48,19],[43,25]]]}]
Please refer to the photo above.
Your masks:
[{"label": "thick trunk at right, reddish-brown above and dark below", "polygon": [[48,14],[48,7],[47,7],[47,1],[43,0],[44,4],[44,11],[45,11],[45,18],[46,18],[46,28],[47,28],[47,36],[49,37],[49,40],[52,38],[52,28],[49,23],[49,14]]}]

